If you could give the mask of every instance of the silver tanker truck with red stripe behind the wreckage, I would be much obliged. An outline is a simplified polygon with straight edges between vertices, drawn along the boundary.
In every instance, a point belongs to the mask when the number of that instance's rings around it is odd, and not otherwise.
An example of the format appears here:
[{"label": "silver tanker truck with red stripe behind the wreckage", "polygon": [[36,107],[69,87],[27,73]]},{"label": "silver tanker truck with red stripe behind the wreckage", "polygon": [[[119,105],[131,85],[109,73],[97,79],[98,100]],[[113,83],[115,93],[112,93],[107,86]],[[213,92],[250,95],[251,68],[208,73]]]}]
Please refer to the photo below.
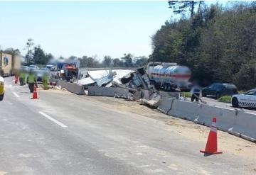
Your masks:
[{"label": "silver tanker truck with red stripe behind the wreckage", "polygon": [[188,80],[191,78],[191,70],[186,66],[170,62],[149,62],[146,73],[156,89],[166,91],[177,89],[188,91],[190,89]]}]

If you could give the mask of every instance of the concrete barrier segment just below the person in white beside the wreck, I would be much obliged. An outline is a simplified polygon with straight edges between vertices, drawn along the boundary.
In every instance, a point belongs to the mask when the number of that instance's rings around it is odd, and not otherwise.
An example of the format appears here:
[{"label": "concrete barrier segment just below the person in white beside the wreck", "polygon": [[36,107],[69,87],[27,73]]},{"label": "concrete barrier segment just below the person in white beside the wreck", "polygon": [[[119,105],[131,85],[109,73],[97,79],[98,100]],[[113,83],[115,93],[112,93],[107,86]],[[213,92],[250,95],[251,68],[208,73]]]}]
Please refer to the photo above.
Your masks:
[{"label": "concrete barrier segment just below the person in white beside the wreck", "polygon": [[174,100],[171,110],[168,115],[176,116],[186,120],[194,121],[198,118],[201,105],[198,103],[191,103],[188,101]]}]

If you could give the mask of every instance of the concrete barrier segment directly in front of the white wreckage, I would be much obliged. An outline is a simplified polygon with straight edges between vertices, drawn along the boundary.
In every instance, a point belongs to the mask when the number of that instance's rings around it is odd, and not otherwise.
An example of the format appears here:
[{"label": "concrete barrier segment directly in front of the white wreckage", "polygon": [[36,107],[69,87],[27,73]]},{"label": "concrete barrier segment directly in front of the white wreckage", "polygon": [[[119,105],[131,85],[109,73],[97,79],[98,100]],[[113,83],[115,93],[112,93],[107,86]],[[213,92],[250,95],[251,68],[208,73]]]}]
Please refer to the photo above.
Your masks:
[{"label": "concrete barrier segment directly in front of the white wreckage", "polygon": [[89,96],[120,96],[127,98],[129,90],[118,87],[88,86]]}]

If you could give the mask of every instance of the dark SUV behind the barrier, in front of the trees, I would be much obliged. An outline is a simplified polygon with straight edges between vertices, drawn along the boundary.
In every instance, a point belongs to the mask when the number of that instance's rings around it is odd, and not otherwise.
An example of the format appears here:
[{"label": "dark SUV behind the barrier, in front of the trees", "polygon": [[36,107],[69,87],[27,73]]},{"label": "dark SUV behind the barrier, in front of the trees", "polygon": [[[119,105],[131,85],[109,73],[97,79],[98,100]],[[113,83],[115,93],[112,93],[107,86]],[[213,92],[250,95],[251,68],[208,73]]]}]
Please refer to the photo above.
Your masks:
[{"label": "dark SUV behind the barrier, in front of the trees", "polygon": [[238,94],[238,88],[235,84],[228,83],[215,83],[204,88],[202,90],[202,96],[215,96],[215,98],[220,98],[221,96],[232,96]]}]

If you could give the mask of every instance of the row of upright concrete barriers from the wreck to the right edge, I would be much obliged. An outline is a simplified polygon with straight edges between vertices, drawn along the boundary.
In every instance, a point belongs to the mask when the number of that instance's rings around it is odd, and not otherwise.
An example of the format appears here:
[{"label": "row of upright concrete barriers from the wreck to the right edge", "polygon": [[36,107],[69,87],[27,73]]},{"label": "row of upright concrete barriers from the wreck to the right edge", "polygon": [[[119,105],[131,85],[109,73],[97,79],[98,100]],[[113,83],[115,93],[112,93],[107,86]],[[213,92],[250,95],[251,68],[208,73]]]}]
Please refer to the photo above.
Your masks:
[{"label": "row of upright concrete barriers from the wreck to the right edge", "polygon": [[256,115],[240,109],[220,108],[171,98],[161,98],[159,111],[191,120],[201,125],[211,125],[217,118],[217,128],[246,140],[256,142]]}]

